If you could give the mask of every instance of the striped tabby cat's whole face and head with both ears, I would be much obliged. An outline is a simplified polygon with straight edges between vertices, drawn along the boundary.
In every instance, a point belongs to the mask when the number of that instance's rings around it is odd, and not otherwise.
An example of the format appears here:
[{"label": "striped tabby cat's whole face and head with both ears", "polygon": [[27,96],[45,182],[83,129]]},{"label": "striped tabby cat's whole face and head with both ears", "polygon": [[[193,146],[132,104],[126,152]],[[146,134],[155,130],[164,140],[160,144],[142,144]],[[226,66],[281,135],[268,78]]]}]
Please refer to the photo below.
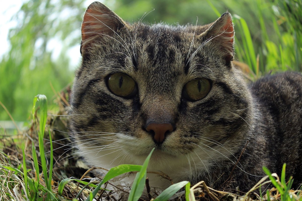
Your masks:
[{"label": "striped tabby cat's whole face and head with both ears", "polygon": [[130,25],[92,3],[71,98],[79,154],[111,168],[141,165],[155,147],[149,169],[167,174],[236,162],[252,108],[231,64],[233,37],[229,13],[202,27]]}]

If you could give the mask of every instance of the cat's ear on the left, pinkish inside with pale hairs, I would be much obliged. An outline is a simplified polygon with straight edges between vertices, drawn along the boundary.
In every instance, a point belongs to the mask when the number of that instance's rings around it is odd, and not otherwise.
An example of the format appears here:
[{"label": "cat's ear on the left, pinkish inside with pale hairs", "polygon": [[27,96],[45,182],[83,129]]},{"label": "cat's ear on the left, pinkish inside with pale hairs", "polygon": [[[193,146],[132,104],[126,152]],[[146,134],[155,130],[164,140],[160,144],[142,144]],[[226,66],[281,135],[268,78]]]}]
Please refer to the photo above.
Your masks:
[{"label": "cat's ear on the left, pinkish inside with pale hairs", "polygon": [[117,30],[127,26],[127,24],[111,11],[107,6],[100,2],[93,2],[85,11],[82,22],[82,42],[80,52],[87,54],[93,42],[113,37]]}]

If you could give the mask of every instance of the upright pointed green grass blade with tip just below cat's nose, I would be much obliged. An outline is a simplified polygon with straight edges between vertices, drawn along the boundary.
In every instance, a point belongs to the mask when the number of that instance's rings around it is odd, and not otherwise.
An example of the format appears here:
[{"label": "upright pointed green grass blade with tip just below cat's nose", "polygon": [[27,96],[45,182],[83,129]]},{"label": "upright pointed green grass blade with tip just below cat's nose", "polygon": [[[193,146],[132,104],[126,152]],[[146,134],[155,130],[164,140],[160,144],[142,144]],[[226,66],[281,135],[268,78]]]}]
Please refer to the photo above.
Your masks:
[{"label": "upright pointed green grass blade with tip just below cat's nose", "polygon": [[137,201],[143,193],[144,183],[146,181],[147,167],[148,167],[149,160],[151,158],[151,155],[152,155],[154,149],[155,148],[153,148],[151,150],[151,152],[147,156],[146,160],[144,161],[143,166],[140,169],[140,172],[138,172],[135,176],[135,179],[133,181],[133,185],[132,185],[129,197],[128,197],[128,200],[130,200],[130,201]]}]

